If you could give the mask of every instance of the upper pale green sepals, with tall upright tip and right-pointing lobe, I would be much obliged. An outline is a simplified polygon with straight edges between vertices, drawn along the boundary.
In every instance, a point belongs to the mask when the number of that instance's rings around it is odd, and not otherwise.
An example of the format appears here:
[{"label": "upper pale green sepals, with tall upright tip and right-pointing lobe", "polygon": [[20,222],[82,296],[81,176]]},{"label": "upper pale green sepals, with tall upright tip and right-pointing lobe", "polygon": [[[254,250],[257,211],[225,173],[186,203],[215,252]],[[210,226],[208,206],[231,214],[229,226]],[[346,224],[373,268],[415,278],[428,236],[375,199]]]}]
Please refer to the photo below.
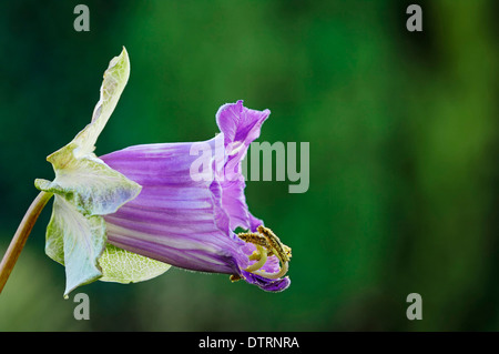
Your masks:
[{"label": "upper pale green sepals, with tall upright tip and right-pointing lobe", "polygon": [[84,214],[113,213],[141,190],[138,183],[112,170],[93,153],[95,141],[116,107],[129,75],[130,60],[123,48],[104,72],[91,123],[68,145],[47,158],[53,165],[55,179],[53,182],[35,181],[38,189],[64,196]]}]

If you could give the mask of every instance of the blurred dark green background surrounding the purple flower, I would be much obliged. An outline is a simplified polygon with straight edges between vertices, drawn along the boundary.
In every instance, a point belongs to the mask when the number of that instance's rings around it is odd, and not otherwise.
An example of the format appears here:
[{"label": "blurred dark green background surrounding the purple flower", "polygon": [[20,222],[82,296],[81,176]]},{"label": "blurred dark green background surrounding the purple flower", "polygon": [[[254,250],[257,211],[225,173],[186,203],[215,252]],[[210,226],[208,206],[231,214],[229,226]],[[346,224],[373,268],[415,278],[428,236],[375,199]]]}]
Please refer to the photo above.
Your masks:
[{"label": "blurred dark green background surrounding the purple flower", "polygon": [[[73,9],[90,8],[90,32]],[[259,141],[309,142],[309,190],[247,182],[293,247],[277,294],[171,270],[63,300],[43,211],[0,296],[0,331],[499,330],[497,1],[2,1],[0,254],[86,123],[125,45],[129,84],[98,144],[198,141],[215,112],[268,108]],[[90,321],[73,296],[90,296]],[[422,296],[408,321],[406,296]]]}]

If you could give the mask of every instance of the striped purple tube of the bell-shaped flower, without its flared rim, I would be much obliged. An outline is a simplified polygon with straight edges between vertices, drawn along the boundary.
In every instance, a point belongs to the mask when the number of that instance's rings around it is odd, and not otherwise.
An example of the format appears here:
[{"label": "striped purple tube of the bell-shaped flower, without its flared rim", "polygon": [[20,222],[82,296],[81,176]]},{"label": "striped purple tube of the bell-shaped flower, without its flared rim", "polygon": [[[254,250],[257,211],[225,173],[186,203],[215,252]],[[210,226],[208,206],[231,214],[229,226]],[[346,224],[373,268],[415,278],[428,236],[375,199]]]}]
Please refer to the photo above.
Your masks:
[{"label": "striped purple tube of the bell-shaped flower, without its flared rim", "polygon": [[189,143],[138,145],[101,158],[142,185],[136,199],[105,216],[108,240],[175,266],[233,273],[237,257],[244,260],[243,242],[230,235],[222,191],[191,179],[190,150]]}]

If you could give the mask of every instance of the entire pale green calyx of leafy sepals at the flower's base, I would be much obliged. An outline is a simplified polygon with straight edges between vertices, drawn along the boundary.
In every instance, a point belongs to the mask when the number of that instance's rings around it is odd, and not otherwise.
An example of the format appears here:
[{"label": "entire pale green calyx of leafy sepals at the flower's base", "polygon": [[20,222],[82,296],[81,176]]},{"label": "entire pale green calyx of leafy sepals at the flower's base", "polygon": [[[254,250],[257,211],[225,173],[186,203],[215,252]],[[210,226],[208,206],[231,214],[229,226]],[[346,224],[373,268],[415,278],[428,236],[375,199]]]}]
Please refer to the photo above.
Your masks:
[{"label": "entire pale green calyx of leafy sepals at the flower's base", "polygon": [[129,75],[130,61],[123,48],[104,72],[91,123],[69,144],[47,158],[52,163],[55,179],[34,182],[37,189],[55,196],[47,227],[45,253],[65,266],[65,297],[75,287],[99,279],[139,282],[160,275],[170,267],[124,250],[106,247],[102,215],[114,213],[141,191],[141,185],[111,169],[93,153]]}]

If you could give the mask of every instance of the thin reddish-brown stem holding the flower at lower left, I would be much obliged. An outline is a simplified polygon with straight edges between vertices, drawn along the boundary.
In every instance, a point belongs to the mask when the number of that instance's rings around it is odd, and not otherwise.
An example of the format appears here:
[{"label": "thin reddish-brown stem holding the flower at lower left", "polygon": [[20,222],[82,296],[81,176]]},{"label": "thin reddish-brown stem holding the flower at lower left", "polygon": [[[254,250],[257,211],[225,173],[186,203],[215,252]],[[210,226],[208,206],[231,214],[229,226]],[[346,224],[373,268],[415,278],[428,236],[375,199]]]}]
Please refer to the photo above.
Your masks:
[{"label": "thin reddish-brown stem holding the flower at lower left", "polygon": [[21,254],[22,247],[24,247],[26,241],[37,222],[38,216],[45,206],[47,202],[52,198],[52,193],[40,192],[34,201],[31,203],[30,209],[26,212],[24,218],[18,226],[9,249],[7,249],[3,255],[2,263],[0,263],[0,293],[9,279],[10,273]]}]

